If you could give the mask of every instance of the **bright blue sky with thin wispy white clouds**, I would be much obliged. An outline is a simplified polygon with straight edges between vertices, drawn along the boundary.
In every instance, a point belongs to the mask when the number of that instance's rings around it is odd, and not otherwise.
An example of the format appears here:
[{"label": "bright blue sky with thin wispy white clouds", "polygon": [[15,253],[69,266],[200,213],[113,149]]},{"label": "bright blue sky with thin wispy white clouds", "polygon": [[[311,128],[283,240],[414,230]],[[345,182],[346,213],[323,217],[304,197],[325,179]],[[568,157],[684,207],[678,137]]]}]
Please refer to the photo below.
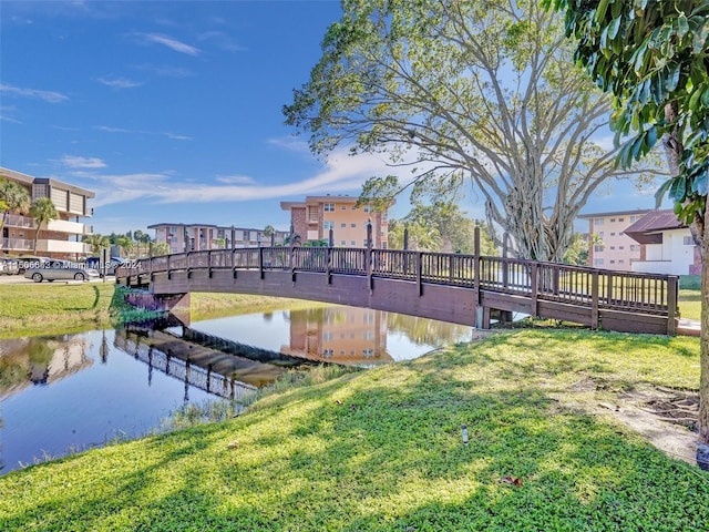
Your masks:
[{"label": "bright blue sky with thin wispy white clouds", "polygon": [[[345,150],[318,161],[284,124],[340,14],[330,0],[3,0],[0,165],[95,191],[97,233],[286,229],[280,201],[356,196],[394,173]],[[653,207],[651,194],[612,183],[585,212]],[[474,197],[464,208],[482,217]]]}]

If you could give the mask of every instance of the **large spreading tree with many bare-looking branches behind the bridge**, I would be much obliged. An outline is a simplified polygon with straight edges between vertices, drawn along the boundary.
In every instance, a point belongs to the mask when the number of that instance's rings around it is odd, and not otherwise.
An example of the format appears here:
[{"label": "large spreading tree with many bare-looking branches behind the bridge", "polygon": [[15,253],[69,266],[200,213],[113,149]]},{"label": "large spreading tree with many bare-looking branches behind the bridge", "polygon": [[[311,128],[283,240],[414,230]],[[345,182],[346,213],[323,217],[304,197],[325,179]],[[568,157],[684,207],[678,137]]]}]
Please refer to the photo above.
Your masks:
[{"label": "large spreading tree with many bare-looking branches behind the bridge", "polygon": [[411,183],[371,180],[372,196],[411,185],[451,197],[471,180],[520,256],[559,260],[589,196],[637,172],[594,141],[609,99],[537,3],[343,0],[286,121],[318,154],[345,143],[411,166]]}]

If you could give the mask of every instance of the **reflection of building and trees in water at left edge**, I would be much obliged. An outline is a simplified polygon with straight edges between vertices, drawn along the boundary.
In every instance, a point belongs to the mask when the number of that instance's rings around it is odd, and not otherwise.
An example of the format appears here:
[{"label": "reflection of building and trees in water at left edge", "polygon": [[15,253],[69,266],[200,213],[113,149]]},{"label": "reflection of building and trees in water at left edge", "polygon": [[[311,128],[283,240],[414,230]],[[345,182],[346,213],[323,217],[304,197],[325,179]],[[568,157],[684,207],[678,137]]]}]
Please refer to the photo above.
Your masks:
[{"label": "reflection of building and trees in water at left edge", "polygon": [[90,367],[89,340],[82,335],[0,340],[0,396],[48,385]]}]

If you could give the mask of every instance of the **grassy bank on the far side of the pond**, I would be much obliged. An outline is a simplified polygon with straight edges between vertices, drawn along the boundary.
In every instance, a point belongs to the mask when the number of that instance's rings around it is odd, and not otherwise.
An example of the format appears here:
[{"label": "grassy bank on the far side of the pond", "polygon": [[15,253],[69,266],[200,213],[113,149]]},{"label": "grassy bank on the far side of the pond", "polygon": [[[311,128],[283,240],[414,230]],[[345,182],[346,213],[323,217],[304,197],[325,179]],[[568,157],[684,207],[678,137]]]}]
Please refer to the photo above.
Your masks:
[{"label": "grassy bank on the far side of the pond", "polygon": [[[0,338],[113,327],[141,311],[125,304],[125,288],[110,283],[0,285]],[[266,311],[304,301],[239,294],[192,294],[194,319]]]}]

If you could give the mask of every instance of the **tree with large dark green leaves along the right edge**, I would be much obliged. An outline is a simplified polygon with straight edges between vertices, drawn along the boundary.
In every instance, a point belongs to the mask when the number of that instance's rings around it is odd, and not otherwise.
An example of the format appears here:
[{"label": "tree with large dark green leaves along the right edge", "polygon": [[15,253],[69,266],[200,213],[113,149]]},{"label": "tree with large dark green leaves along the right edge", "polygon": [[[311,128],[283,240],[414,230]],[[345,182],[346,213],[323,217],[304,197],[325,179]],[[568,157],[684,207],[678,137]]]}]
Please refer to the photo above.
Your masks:
[{"label": "tree with large dark green leaves along the right edge", "polygon": [[[551,1],[551,0],[549,0]],[[619,161],[628,166],[661,139],[675,201],[702,249],[699,439],[709,443],[709,1],[553,0],[578,40],[577,58],[613,93]],[[624,139],[628,135],[629,139]],[[709,464],[708,464],[709,466]]]}]

